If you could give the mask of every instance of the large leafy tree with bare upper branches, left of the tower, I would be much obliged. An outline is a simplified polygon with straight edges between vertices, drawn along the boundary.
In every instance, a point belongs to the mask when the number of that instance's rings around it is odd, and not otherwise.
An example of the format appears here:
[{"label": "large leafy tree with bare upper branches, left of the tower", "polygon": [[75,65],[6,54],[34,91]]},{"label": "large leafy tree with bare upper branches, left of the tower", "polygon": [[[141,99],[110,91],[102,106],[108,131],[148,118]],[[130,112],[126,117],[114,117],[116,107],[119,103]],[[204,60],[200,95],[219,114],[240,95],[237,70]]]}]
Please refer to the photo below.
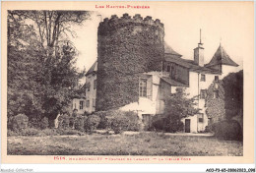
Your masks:
[{"label": "large leafy tree with bare upper branches, left of the tower", "polygon": [[[81,75],[68,33],[86,11],[8,11],[8,116],[55,119]],[[84,72],[85,73],[85,72]]]}]

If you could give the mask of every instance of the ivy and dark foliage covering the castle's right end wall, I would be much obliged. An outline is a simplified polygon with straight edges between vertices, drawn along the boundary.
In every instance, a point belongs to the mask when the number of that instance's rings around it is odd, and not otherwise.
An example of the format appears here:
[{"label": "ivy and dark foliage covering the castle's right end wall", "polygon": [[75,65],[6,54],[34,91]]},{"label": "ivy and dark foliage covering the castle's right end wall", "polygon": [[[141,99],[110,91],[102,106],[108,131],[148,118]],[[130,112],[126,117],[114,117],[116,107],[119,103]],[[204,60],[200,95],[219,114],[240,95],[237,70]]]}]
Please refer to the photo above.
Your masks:
[{"label": "ivy and dark foliage covering the castle's right end wall", "polygon": [[[214,98],[215,86],[218,86],[219,97]],[[243,114],[243,71],[230,73],[223,80],[214,82],[208,88],[206,113],[214,123],[230,120]]]}]

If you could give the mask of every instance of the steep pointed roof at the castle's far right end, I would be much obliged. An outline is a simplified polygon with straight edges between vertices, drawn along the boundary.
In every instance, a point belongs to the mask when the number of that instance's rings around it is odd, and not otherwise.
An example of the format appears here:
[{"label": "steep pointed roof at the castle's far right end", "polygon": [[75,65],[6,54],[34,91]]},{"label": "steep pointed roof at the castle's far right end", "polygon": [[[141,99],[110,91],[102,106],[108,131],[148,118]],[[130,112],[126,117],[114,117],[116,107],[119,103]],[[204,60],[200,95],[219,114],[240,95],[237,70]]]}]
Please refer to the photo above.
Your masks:
[{"label": "steep pointed roof at the castle's far right end", "polygon": [[235,66],[237,67],[238,65],[231,60],[231,58],[227,55],[227,53],[224,50],[224,47],[220,44],[219,48],[215,52],[215,55],[213,56],[212,60],[210,63],[206,64],[206,67],[211,67],[215,65],[228,65],[228,66]]}]

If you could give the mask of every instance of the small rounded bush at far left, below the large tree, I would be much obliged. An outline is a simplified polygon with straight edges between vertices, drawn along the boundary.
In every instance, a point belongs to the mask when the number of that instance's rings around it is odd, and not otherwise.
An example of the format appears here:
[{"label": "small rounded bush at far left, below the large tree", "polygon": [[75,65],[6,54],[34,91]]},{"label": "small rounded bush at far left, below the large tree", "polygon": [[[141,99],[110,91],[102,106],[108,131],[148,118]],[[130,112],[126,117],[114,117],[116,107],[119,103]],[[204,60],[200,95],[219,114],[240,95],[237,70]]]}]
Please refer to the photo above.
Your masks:
[{"label": "small rounded bush at far left, below the large tree", "polygon": [[25,131],[29,128],[29,117],[25,114],[18,114],[13,118],[12,124],[13,131]]}]

